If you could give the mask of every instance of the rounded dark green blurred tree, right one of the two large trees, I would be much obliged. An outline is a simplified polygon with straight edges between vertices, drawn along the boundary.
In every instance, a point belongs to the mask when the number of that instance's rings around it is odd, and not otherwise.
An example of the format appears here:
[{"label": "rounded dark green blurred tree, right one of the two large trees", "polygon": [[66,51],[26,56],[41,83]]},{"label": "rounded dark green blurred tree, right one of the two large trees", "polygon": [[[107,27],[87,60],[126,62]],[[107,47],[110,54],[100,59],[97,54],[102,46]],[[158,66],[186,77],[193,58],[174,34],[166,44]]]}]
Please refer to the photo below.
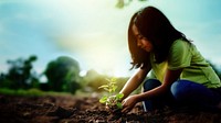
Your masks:
[{"label": "rounded dark green blurred tree, right one of the two large trees", "polygon": [[53,91],[66,91],[74,93],[80,89],[78,63],[66,56],[61,56],[48,64],[44,71],[48,83]]}]

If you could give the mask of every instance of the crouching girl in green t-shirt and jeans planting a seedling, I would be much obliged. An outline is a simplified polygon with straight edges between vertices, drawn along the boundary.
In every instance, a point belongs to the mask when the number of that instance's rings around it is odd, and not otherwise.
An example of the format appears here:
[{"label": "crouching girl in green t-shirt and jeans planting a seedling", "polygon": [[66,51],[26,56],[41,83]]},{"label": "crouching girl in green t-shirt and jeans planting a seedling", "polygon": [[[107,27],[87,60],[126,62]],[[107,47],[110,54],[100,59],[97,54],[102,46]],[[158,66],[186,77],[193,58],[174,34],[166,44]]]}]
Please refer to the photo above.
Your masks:
[{"label": "crouching girl in green t-shirt and jeans planting a seedling", "polygon": [[[122,112],[143,101],[146,111],[165,105],[221,109],[221,82],[196,46],[177,31],[162,12],[147,7],[136,12],[128,27],[133,68],[126,82]],[[129,96],[144,82],[144,92]]]}]

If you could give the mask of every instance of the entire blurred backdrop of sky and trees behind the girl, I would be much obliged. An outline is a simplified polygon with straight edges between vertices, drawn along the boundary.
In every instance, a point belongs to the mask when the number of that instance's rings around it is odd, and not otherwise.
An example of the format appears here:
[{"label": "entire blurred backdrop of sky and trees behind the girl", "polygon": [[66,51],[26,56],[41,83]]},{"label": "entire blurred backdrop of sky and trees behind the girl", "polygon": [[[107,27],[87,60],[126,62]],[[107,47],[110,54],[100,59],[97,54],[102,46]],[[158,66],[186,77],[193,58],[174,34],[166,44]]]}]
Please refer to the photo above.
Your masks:
[{"label": "entire blurred backdrop of sky and trees behind the girl", "polygon": [[129,70],[127,26],[155,5],[220,76],[220,0],[0,0],[0,88],[99,91]]}]

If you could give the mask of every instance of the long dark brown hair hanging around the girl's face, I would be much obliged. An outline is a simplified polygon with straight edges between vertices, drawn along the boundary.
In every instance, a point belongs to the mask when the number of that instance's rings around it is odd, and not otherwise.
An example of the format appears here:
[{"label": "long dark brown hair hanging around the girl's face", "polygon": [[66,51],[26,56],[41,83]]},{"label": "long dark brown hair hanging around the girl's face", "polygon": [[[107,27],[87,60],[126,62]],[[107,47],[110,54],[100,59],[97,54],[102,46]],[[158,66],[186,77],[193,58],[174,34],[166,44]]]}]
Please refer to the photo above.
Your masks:
[{"label": "long dark brown hair hanging around the girl's face", "polygon": [[128,27],[128,46],[133,59],[133,68],[146,68],[150,66],[150,53],[137,46],[137,41],[131,30],[133,24],[152,44],[152,53],[157,64],[167,59],[172,42],[178,38],[190,42],[171,25],[166,15],[158,9],[154,7],[144,8],[133,15]]}]

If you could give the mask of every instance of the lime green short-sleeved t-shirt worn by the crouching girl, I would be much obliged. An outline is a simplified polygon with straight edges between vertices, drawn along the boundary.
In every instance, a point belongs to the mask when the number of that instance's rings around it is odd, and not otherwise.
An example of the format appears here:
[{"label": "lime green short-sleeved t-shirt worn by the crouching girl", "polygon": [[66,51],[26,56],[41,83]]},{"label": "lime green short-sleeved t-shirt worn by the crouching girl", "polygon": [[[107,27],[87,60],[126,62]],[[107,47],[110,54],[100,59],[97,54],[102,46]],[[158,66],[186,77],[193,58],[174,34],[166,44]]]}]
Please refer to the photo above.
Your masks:
[{"label": "lime green short-sleeved t-shirt worn by the crouching girl", "polygon": [[148,75],[149,78],[157,78],[162,81],[167,69],[183,68],[180,79],[194,81],[208,88],[221,87],[220,79],[212,67],[191,43],[177,40],[170,47],[167,62],[156,64],[154,55],[151,55],[150,63],[151,71]]}]

